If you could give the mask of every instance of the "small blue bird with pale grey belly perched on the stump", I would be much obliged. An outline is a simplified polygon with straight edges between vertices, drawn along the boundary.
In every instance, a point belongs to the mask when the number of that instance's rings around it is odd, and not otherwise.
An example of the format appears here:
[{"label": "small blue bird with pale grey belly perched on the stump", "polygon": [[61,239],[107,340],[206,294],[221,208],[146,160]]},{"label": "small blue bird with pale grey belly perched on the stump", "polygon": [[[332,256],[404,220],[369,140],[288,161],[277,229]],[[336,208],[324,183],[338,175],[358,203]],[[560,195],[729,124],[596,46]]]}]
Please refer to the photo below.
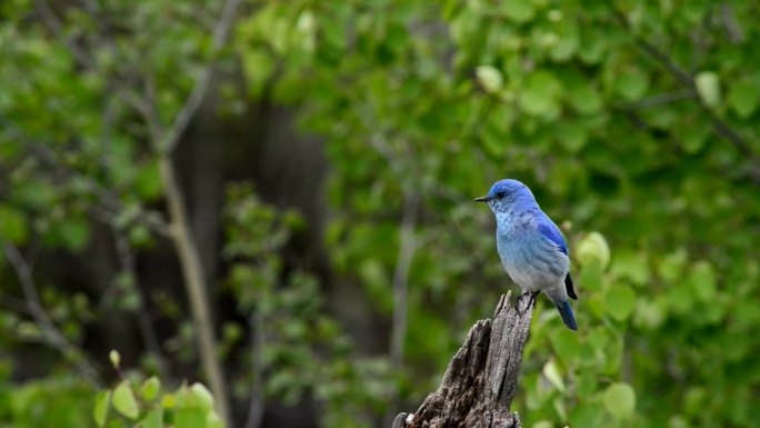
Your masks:
[{"label": "small blue bird with pale grey belly perched on the stump", "polygon": [[533,193],[518,180],[497,181],[486,202],[497,220],[497,250],[509,277],[534,303],[543,291],[571,330],[578,330],[569,298],[578,299],[570,277],[568,245],[557,225],[539,207]]}]

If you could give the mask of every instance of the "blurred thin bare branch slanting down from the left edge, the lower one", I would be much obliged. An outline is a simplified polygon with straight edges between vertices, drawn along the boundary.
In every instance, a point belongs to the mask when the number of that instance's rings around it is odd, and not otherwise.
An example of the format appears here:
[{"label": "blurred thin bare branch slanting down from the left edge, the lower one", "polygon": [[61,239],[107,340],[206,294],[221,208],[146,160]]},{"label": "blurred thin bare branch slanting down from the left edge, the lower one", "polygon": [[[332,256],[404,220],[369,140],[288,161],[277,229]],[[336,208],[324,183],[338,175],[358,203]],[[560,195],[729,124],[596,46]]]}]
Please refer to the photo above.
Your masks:
[{"label": "blurred thin bare branch slanting down from the left edge, the lower one", "polygon": [[37,292],[37,285],[34,283],[34,278],[32,277],[31,269],[27,261],[21,256],[18,248],[10,241],[3,242],[3,249],[8,261],[10,261],[16,271],[16,276],[21,285],[21,290],[23,291],[23,297],[27,301],[27,307],[29,308],[29,313],[37,326],[42,330],[42,335],[48,345],[58,349],[64,356],[71,357],[77,370],[92,385],[96,387],[101,387],[102,381],[98,375],[98,370],[90,364],[89,359],[84,352],[71,344],[63,334],[56,327],[53,321],[50,319],[48,313],[42,307],[42,301],[40,300],[40,295]]}]

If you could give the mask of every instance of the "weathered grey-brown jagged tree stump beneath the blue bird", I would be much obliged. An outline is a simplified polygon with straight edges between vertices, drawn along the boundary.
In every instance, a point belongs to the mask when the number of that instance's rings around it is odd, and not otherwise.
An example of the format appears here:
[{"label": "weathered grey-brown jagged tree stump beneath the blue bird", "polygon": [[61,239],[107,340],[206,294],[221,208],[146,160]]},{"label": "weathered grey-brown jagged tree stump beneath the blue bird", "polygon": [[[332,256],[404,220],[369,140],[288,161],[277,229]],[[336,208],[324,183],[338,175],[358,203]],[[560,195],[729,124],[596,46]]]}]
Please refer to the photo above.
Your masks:
[{"label": "weathered grey-brown jagged tree stump beneath the blue bird", "polygon": [[510,306],[502,295],[493,320],[476,322],[453,357],[440,387],[414,414],[399,414],[392,428],[521,428],[509,411],[533,307],[529,298]]}]

